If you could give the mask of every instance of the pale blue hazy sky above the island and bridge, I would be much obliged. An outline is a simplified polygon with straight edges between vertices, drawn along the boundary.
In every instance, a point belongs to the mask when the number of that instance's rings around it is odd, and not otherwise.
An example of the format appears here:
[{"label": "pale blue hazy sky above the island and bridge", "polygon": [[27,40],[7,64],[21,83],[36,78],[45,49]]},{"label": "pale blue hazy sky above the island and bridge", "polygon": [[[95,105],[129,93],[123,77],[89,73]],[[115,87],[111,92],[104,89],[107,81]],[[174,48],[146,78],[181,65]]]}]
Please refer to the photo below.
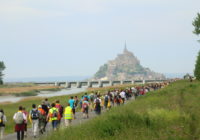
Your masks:
[{"label": "pale blue hazy sky above the island and bridge", "polygon": [[193,73],[200,0],[0,0],[6,78],[88,76],[127,48],[144,67]]}]

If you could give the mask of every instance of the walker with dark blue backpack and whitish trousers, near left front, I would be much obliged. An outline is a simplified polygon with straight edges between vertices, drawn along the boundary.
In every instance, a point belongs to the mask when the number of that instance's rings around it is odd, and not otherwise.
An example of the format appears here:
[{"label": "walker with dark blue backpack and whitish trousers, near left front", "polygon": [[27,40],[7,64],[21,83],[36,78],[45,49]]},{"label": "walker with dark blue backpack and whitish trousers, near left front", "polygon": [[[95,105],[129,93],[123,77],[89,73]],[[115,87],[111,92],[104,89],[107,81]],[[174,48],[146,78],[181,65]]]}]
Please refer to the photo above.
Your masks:
[{"label": "walker with dark blue backpack and whitish trousers, near left front", "polygon": [[39,124],[39,112],[35,104],[32,105],[32,110],[29,113],[29,120],[32,123],[33,137],[36,138]]}]

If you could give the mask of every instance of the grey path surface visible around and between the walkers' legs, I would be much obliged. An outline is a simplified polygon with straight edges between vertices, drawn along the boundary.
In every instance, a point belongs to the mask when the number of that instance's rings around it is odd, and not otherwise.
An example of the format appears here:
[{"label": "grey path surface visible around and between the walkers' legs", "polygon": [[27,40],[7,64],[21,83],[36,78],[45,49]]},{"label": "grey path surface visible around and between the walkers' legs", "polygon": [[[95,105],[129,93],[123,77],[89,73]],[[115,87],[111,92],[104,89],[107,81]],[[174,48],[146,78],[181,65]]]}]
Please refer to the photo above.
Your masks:
[{"label": "grey path surface visible around and between the walkers' legs", "polygon": [[[128,103],[128,102],[130,102],[130,101],[133,101],[133,100],[135,100],[135,97],[132,97],[131,99],[129,99],[128,101],[126,101],[125,104]],[[117,107],[117,106],[115,105],[114,107]],[[106,113],[106,109],[103,109],[102,113]],[[95,113],[95,111],[89,110],[89,118],[86,119],[86,118],[83,117],[83,113],[82,112],[76,112],[76,119],[74,119],[72,121],[72,126],[81,125],[81,124],[86,123],[90,119],[92,119],[94,117],[97,117],[97,116],[98,115]],[[64,123],[64,119],[62,118],[60,129],[65,128],[64,124],[65,124]],[[47,126],[46,126],[46,132],[44,134],[39,134],[39,132],[38,132],[37,138],[34,138],[33,137],[33,133],[32,133],[32,129],[28,128],[27,137],[24,138],[24,139],[27,139],[27,140],[38,139],[39,140],[39,139],[45,138],[46,136],[50,135],[51,132],[53,132],[52,125],[49,122],[47,124]],[[9,135],[5,136],[4,140],[16,140],[16,137],[17,137],[17,134],[16,133],[12,133],[12,134],[9,134]]]}]

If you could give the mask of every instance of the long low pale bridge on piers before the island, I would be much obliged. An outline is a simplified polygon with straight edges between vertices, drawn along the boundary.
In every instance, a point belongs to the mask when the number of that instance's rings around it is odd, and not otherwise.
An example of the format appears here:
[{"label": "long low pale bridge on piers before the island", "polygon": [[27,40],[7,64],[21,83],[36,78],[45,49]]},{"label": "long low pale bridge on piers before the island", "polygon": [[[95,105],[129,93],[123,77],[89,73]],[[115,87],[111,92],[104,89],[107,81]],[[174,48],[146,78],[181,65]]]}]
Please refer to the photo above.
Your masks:
[{"label": "long low pale bridge on piers before the island", "polygon": [[37,85],[53,85],[61,86],[65,88],[71,88],[72,86],[77,88],[88,87],[105,87],[105,86],[114,86],[114,85],[123,85],[123,84],[146,84],[146,83],[161,83],[167,81],[163,80],[124,80],[124,81],[72,81],[72,82],[40,82],[34,83]]}]

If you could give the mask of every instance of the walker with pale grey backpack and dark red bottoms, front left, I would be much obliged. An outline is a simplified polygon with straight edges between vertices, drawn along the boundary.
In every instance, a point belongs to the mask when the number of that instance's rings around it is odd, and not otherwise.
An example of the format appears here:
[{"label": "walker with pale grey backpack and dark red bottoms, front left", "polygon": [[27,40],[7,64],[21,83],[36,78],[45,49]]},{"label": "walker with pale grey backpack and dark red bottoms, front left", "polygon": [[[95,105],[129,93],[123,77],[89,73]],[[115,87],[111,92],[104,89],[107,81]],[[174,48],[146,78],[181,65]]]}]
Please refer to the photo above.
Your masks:
[{"label": "walker with pale grey backpack and dark red bottoms, front left", "polygon": [[24,121],[26,120],[25,114],[22,112],[22,106],[19,106],[18,112],[16,112],[13,116],[13,120],[15,121],[15,132],[17,132],[17,140],[24,139]]}]

